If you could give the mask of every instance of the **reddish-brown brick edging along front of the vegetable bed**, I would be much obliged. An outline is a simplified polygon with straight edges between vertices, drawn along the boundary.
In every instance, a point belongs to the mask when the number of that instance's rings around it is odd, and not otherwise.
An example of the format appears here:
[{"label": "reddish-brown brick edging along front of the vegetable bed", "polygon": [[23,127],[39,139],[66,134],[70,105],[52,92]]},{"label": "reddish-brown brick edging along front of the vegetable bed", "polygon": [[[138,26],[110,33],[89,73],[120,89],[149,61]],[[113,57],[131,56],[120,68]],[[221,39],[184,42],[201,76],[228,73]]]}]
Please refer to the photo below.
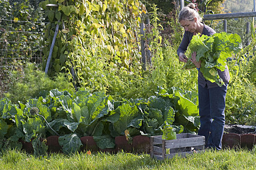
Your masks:
[{"label": "reddish-brown brick edging along front of the vegetable bed", "polygon": [[[62,153],[61,146],[58,143],[59,136],[49,136],[46,138],[49,153]],[[91,152],[110,152],[117,153],[121,150],[128,153],[150,153],[150,138],[148,136],[134,136],[132,143],[128,143],[126,136],[116,136],[115,137],[115,148],[100,149],[93,140],[93,136],[83,136],[80,138],[83,146],[81,151],[91,151]],[[22,150],[26,153],[33,153],[32,142],[24,142],[19,140],[22,144]],[[255,134],[224,134],[222,138],[223,148],[247,148],[252,149],[256,144]]]}]

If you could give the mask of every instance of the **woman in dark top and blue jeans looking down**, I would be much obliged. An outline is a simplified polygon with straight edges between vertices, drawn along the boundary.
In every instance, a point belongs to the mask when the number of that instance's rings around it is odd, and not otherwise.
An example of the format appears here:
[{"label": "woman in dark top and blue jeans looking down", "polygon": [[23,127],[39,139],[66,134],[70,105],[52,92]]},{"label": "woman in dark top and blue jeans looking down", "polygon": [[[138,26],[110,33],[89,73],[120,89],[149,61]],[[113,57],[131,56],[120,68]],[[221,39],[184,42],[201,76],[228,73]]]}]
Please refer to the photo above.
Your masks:
[{"label": "woman in dark top and blue jeans looking down", "polygon": [[[184,7],[179,15],[179,22],[185,29],[182,42],[177,50],[179,61],[187,62],[187,57],[184,55],[187,47],[196,34],[212,35],[216,32],[201,22],[195,4],[189,3]],[[192,52],[191,62],[198,69],[198,95],[199,95],[199,115],[201,127],[198,135],[205,136],[206,148],[221,149],[221,139],[223,136],[225,125],[225,97],[227,93],[227,85],[230,80],[229,71],[226,66],[224,71],[218,70],[219,77],[225,85],[219,87],[216,83],[205,80],[200,67],[201,61],[196,61],[196,51]]]}]

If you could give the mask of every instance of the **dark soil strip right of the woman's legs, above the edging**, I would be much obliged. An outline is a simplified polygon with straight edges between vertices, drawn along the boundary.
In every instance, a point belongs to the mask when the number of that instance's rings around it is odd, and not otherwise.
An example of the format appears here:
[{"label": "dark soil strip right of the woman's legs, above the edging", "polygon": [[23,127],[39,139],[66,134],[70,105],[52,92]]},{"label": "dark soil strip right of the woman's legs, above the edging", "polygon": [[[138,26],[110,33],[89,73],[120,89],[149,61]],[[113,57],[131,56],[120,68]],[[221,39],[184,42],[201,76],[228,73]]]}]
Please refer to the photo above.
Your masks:
[{"label": "dark soil strip right of the woman's legs, above the edging", "polygon": [[243,126],[243,125],[225,125],[224,134],[256,134],[255,127],[252,126]]}]

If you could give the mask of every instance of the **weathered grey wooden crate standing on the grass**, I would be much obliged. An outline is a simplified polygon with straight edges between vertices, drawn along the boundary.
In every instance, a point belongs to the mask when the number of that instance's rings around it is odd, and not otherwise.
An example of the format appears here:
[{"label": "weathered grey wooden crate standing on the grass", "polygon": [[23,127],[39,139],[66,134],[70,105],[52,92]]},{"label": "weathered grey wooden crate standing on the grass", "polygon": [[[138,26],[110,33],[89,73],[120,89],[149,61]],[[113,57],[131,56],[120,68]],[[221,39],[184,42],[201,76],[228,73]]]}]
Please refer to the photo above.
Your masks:
[{"label": "weathered grey wooden crate standing on the grass", "polygon": [[[150,157],[156,159],[172,158],[175,155],[186,156],[186,154],[204,151],[205,137],[189,133],[177,134],[177,139],[164,140],[162,136],[150,137]],[[170,154],[166,154],[170,149]]]}]

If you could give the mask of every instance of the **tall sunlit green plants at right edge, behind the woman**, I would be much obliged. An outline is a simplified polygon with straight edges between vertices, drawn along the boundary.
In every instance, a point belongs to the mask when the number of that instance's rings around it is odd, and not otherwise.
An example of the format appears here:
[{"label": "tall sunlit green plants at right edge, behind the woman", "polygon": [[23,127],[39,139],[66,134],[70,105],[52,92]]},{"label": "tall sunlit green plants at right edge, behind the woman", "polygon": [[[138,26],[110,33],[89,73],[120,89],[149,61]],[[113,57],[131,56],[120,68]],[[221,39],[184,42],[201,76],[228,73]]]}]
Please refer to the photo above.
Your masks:
[{"label": "tall sunlit green plants at right edge, behind the woman", "polygon": [[227,121],[239,124],[255,124],[256,82],[254,72],[256,45],[254,22],[251,23],[251,41],[242,51],[229,61],[230,85],[226,97]]}]

